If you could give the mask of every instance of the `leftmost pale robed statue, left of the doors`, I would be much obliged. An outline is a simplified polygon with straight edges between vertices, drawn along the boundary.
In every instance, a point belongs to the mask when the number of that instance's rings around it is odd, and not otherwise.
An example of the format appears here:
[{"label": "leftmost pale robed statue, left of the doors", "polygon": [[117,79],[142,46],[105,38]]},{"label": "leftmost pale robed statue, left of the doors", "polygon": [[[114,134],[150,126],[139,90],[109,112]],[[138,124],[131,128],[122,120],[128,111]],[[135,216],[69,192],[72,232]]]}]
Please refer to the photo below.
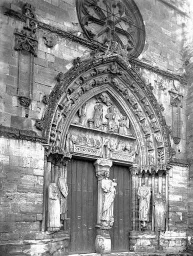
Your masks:
[{"label": "leftmost pale robed statue, left of the doors", "polygon": [[60,229],[60,191],[54,182],[48,185],[47,231]]}]

